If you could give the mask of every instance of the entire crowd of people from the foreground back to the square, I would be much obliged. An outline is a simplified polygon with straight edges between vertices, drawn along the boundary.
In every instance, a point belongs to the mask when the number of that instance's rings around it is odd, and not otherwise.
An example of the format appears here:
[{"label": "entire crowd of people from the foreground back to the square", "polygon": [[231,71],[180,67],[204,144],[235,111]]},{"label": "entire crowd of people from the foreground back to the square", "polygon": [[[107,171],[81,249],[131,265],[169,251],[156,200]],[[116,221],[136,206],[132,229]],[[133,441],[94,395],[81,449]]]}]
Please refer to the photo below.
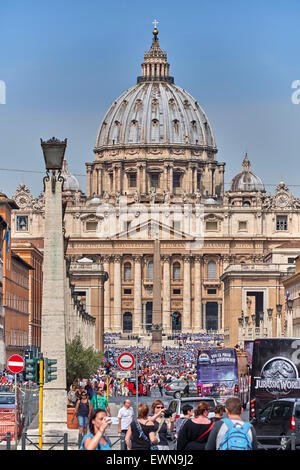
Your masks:
[{"label": "entire crowd of people from the foreground back to the square", "polygon": [[[166,409],[162,401],[163,387],[174,379],[196,380],[198,350],[220,345],[216,338],[212,341],[209,336],[195,338],[186,335],[178,341],[178,347],[166,347],[162,354],[153,354],[150,349],[143,347],[131,348],[130,352],[138,363],[140,383],[147,385],[150,390],[156,387],[161,392],[161,399],[154,399],[150,406],[141,403],[136,413],[128,396],[130,379],[119,378],[117,367],[110,374],[109,390],[106,388],[107,377],[103,368],[88,381],[79,380],[76,386],[71,387],[69,406],[74,407],[74,416],[78,417],[79,432],[83,435],[82,450],[111,449],[108,435],[111,410],[107,395],[124,396],[117,417],[118,433],[123,436],[125,450],[223,449],[231,445],[232,432],[239,433],[240,446],[244,445],[245,449],[257,448],[255,430],[249,423],[242,421],[243,410],[237,397],[229,398],[225,407],[217,405],[214,418],[209,418],[210,406],[205,401],[199,402],[195,408],[189,403],[185,404],[182,408],[183,416],[177,419]],[[110,361],[116,365],[124,348],[110,342],[109,352]],[[237,442],[236,438],[232,440]]]}]

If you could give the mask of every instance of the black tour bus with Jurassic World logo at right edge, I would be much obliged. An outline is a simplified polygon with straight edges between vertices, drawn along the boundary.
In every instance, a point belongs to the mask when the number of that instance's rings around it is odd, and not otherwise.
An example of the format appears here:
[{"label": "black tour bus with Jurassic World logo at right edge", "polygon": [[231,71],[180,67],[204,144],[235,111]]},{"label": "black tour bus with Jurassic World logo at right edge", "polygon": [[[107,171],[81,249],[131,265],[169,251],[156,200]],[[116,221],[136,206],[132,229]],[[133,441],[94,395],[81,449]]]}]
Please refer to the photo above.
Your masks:
[{"label": "black tour bus with Jurassic World logo at right edge", "polygon": [[300,338],[263,338],[253,344],[249,419],[276,398],[300,398]]}]

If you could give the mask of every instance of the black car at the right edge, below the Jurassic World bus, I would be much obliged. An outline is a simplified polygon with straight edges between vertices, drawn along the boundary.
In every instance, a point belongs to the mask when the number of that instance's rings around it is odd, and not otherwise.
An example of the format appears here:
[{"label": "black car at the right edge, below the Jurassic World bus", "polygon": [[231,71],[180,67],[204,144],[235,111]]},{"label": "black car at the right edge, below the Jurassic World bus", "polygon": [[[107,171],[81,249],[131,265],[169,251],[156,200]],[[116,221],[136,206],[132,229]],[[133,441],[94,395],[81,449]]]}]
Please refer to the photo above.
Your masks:
[{"label": "black car at the right edge, below the Jurassic World bus", "polygon": [[[259,443],[263,447],[291,448],[290,436],[296,436],[296,446],[300,446],[300,398],[278,398],[270,401],[251,420]],[[278,436],[272,439],[272,436]],[[266,437],[266,439],[264,439]]]}]

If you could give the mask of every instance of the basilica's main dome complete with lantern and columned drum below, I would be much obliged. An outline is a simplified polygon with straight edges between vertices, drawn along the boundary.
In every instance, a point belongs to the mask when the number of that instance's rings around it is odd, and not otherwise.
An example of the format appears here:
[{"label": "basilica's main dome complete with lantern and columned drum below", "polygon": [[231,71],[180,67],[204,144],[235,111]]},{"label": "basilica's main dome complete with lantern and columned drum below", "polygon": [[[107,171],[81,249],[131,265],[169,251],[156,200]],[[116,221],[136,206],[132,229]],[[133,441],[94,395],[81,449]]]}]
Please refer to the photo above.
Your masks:
[{"label": "basilica's main dome complete with lantern and columned drum below", "polygon": [[169,77],[166,52],[153,31],[142,77],[110,107],[100,125],[95,161],[87,163],[87,195],[135,192],[222,196],[224,163],[199,103]]}]

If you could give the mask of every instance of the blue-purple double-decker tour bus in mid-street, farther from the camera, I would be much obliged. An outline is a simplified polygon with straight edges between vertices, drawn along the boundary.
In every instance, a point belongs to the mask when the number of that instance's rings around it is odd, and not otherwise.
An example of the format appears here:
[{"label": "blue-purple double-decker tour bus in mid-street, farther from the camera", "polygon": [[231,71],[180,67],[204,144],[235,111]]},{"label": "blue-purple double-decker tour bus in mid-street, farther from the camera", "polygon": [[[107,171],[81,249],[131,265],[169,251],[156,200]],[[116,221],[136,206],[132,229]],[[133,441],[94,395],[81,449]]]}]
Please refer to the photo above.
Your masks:
[{"label": "blue-purple double-decker tour bus in mid-street, farther from the camera", "polygon": [[201,349],[197,357],[197,389],[200,397],[215,397],[224,404],[239,397],[243,407],[249,400],[247,355],[233,348]]}]

